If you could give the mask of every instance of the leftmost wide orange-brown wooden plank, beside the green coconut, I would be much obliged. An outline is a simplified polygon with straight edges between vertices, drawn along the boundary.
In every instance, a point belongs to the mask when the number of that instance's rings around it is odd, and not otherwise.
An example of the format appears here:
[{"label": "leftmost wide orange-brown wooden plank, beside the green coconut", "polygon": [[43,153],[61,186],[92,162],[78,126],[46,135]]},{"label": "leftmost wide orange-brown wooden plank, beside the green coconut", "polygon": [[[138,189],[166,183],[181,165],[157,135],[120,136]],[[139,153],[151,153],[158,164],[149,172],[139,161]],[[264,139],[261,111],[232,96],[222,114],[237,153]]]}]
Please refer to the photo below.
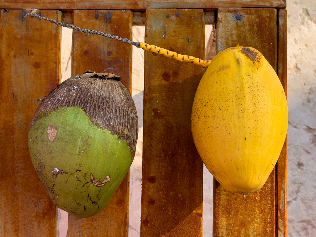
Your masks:
[{"label": "leftmost wide orange-brown wooden plank, beside the green coconut", "polygon": [[0,236],[50,237],[56,235],[55,206],[32,165],[27,134],[40,101],[59,82],[61,27],[23,14],[0,13]]}]

